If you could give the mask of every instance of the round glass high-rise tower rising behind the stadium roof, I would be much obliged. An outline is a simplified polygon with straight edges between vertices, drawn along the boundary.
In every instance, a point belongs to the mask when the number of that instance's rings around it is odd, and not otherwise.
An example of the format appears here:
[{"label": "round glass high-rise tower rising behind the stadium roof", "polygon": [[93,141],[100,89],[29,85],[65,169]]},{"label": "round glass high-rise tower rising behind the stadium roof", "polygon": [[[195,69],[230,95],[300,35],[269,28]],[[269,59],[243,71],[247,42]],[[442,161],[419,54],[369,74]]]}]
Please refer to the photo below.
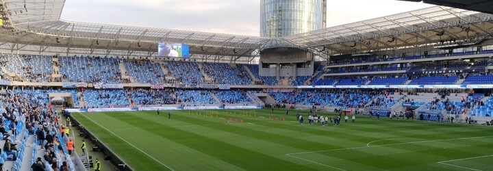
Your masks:
[{"label": "round glass high-rise tower rising behind the stadium roof", "polygon": [[279,38],[326,27],[327,0],[261,0],[260,36]]}]

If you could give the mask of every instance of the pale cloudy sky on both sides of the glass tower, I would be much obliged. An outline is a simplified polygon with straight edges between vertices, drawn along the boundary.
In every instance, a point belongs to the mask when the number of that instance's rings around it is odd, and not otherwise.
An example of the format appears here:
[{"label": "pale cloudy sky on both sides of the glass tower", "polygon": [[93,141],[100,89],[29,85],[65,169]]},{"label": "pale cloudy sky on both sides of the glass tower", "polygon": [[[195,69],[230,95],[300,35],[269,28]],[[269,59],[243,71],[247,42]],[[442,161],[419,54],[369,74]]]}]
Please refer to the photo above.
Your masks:
[{"label": "pale cloudy sky on both sides of the glass tower", "polygon": [[[396,0],[327,1],[327,27],[432,6]],[[260,0],[66,0],[62,19],[259,36]]]}]

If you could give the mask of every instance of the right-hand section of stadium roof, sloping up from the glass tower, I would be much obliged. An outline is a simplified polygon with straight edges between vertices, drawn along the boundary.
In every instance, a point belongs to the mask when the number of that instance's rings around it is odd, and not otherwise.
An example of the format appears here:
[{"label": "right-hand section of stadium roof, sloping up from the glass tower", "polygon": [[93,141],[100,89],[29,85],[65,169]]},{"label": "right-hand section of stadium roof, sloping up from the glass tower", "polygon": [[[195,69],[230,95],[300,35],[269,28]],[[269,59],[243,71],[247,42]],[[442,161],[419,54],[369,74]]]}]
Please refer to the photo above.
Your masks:
[{"label": "right-hand section of stadium roof, sloping up from the glass tower", "polygon": [[435,6],[328,27],[286,39],[304,47],[328,49],[333,53],[352,53],[432,44],[449,38],[461,40],[492,36],[492,20],[492,14]]}]

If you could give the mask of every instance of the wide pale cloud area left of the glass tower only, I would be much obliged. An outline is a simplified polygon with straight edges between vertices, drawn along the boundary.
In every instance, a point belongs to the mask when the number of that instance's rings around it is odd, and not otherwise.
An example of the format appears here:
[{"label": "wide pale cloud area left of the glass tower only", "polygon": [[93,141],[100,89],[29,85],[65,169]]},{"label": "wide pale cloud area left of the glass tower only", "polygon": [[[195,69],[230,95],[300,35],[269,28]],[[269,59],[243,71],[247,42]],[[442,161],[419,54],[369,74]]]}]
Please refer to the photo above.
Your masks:
[{"label": "wide pale cloud area left of the glass tower only", "polygon": [[258,36],[258,4],[259,0],[67,1],[62,18],[88,23]]}]

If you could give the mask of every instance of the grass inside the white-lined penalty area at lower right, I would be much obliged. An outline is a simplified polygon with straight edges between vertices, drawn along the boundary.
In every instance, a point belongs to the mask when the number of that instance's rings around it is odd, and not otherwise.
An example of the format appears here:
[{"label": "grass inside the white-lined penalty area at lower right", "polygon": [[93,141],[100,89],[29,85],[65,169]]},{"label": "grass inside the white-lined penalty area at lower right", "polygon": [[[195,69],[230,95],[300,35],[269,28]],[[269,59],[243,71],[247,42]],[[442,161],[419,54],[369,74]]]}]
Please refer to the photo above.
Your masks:
[{"label": "grass inside the white-lined penalty area at lower right", "polygon": [[[394,170],[397,168],[412,168],[413,166],[420,166],[422,164],[430,164],[435,162],[436,159],[444,159],[444,157],[451,155],[455,152],[460,155],[474,155],[472,151],[468,151],[468,146],[475,146],[471,144],[470,140],[473,139],[460,139],[455,141],[463,142],[462,146],[455,148],[433,148],[433,146],[442,146],[448,142],[435,142],[425,143],[422,146],[416,146],[417,144],[401,144],[399,146],[379,146],[376,148],[351,148],[341,150],[331,150],[330,152],[320,153],[305,153],[299,155],[290,155],[290,157],[303,158],[314,163],[322,163],[330,166],[346,166],[347,170],[358,170],[358,168],[366,168],[366,170]],[[485,139],[485,138],[481,138]],[[438,144],[436,144],[438,143]],[[484,142],[481,142],[484,143]],[[491,145],[491,144],[489,144]],[[431,149],[430,149],[431,148]],[[488,149],[488,148],[484,148]],[[435,153],[428,153],[430,150],[434,150]],[[357,155],[353,155],[357,154]],[[444,156],[446,155],[446,156]],[[382,164],[385,163],[385,164]],[[436,166],[434,166],[436,167]],[[427,166],[431,169],[431,166]],[[423,168],[420,168],[422,170]],[[440,169],[440,168],[438,168]],[[442,168],[443,169],[443,168]]]}]

